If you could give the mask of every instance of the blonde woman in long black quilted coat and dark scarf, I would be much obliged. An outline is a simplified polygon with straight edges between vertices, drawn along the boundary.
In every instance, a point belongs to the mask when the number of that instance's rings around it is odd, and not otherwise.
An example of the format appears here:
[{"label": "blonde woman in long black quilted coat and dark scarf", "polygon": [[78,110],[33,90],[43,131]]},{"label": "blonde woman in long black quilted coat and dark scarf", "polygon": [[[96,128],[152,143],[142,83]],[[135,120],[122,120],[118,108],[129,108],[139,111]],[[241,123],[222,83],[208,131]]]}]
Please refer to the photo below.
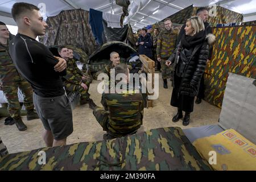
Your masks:
[{"label": "blonde woman in long black quilted coat and dark scarf", "polygon": [[167,66],[174,63],[171,105],[177,107],[177,114],[172,118],[173,122],[183,118],[182,111],[185,111],[183,125],[189,124],[195,96],[207,63],[209,46],[212,46],[214,40],[213,34],[206,35],[204,22],[199,16],[192,16],[187,20],[185,34],[175,52],[166,61]]}]

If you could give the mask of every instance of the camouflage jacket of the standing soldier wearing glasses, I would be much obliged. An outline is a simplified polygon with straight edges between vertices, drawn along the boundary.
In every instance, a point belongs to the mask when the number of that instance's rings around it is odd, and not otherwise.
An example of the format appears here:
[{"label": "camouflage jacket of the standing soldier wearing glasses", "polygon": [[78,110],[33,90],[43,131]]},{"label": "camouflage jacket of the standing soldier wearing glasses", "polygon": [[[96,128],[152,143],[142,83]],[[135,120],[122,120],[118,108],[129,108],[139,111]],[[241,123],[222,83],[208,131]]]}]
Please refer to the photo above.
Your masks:
[{"label": "camouflage jacket of the standing soldier wearing glasses", "polygon": [[175,49],[177,39],[177,30],[167,31],[164,29],[158,36],[158,44],[156,47],[156,56],[168,58]]}]

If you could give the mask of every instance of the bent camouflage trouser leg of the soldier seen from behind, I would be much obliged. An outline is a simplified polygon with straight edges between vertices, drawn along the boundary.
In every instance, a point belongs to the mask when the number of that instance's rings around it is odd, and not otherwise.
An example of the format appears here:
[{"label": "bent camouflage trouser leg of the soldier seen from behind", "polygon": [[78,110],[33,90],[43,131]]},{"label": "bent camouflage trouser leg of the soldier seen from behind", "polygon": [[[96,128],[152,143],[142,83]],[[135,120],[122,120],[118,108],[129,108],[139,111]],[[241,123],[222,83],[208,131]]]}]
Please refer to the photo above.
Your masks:
[{"label": "bent camouflage trouser leg of the soldier seen from behind", "polygon": [[93,110],[93,115],[103,128],[103,131],[108,131],[109,112],[102,107],[97,107]]}]

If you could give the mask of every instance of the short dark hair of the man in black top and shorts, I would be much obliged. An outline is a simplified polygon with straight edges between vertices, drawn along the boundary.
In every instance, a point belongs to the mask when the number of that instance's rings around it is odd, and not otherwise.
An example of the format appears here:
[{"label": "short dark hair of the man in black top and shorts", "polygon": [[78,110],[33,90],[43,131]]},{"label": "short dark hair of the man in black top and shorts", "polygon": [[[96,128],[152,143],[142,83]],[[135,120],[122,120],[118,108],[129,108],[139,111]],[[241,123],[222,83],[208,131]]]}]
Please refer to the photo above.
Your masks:
[{"label": "short dark hair of the man in black top and shorts", "polygon": [[13,19],[16,22],[16,19],[22,14],[24,11],[33,11],[33,10],[40,10],[35,5],[31,5],[29,3],[25,2],[17,2],[13,5],[13,8],[11,9],[11,14],[13,15]]}]

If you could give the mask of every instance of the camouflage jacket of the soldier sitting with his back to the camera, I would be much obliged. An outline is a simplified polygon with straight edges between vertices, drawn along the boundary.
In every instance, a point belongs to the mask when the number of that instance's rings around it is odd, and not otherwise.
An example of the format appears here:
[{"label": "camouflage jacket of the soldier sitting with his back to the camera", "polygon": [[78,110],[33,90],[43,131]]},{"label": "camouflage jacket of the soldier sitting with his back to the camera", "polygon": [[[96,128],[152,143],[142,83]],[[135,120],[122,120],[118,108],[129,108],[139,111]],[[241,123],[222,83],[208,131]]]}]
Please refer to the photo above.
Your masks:
[{"label": "camouflage jacket of the soldier sitting with his back to the camera", "polygon": [[141,93],[103,93],[101,104],[109,111],[107,127],[114,137],[134,133],[141,127],[144,109]]}]

